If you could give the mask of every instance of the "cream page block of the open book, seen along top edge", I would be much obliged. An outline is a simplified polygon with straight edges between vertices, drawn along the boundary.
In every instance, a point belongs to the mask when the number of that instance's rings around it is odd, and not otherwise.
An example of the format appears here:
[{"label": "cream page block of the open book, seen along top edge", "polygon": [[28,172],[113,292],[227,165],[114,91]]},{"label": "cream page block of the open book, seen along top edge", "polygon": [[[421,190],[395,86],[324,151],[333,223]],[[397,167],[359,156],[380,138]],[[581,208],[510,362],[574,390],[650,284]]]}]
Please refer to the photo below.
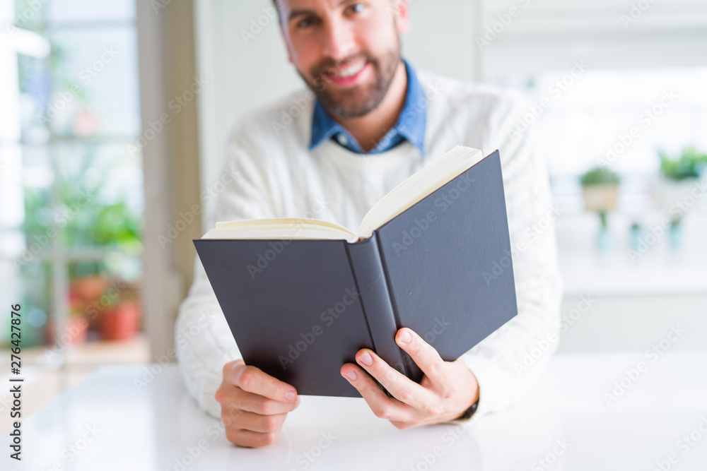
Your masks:
[{"label": "cream page block of the open book, seen along top edge", "polygon": [[481,150],[457,147],[424,167],[383,196],[363,217],[358,234],[346,227],[317,219],[278,217],[274,219],[217,222],[204,239],[346,239],[356,242],[404,210],[415,205],[483,158]]}]

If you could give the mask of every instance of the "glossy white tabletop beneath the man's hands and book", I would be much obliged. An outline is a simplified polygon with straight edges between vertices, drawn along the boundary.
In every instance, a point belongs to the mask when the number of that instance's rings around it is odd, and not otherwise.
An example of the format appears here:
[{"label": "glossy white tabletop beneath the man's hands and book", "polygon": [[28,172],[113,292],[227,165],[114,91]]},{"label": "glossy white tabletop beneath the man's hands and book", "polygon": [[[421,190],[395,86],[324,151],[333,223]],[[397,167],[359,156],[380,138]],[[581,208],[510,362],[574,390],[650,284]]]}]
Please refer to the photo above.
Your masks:
[{"label": "glossy white tabletop beneath the man's hands and book", "polygon": [[[641,360],[648,371],[626,376],[628,389],[607,405],[604,393]],[[305,396],[276,443],[255,450],[226,440],[176,366],[153,366],[158,374],[138,390],[146,368],[103,366],[28,417],[23,461],[8,457],[4,434],[0,469],[650,471],[658,462],[707,470],[707,352],[655,363],[643,354],[556,354],[517,404],[469,427],[402,431],[362,399]]]}]

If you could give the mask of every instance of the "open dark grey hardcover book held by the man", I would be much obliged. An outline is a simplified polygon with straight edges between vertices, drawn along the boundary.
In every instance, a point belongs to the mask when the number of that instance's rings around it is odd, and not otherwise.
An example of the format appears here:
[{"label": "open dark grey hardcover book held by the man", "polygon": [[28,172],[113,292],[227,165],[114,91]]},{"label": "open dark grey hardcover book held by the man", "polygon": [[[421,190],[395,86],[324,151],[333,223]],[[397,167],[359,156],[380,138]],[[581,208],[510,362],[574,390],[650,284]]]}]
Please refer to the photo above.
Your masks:
[{"label": "open dark grey hardcover book held by the man", "polygon": [[454,361],[518,314],[498,150],[453,148],[375,203],[357,234],[240,220],[194,246],[245,363],[303,395],[360,397],[339,371],[364,347],[419,383],[399,328]]}]

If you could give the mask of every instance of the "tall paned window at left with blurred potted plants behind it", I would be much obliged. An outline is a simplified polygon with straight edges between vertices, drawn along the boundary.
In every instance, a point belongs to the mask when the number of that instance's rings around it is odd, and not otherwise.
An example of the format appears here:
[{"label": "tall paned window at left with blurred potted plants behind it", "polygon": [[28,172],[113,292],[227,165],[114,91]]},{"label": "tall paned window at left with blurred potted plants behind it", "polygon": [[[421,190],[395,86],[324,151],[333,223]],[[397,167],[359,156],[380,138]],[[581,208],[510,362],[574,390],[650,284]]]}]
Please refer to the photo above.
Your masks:
[{"label": "tall paned window at left with blurred potted plants behind it", "polygon": [[23,306],[23,346],[53,344],[60,363],[71,343],[139,328],[135,5],[0,8],[0,297]]}]

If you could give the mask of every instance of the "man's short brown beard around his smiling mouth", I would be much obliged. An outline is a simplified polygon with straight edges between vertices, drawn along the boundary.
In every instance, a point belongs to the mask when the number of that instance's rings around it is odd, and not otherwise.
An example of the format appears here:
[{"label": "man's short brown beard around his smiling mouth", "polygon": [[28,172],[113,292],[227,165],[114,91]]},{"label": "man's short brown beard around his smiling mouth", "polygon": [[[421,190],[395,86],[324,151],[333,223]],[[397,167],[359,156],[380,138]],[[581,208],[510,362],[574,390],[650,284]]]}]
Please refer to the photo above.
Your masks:
[{"label": "man's short brown beard around his smiling mouth", "polygon": [[[356,85],[344,90],[335,90],[330,86],[331,79],[326,76],[325,71],[330,67],[340,66],[356,59],[366,60],[370,64],[373,70],[373,83]],[[358,118],[380,105],[390,88],[400,60],[400,48],[397,47],[380,59],[369,53],[352,56],[343,61],[325,59],[312,68],[311,79],[305,77],[299,70],[297,72],[329,114],[340,119]]]}]

